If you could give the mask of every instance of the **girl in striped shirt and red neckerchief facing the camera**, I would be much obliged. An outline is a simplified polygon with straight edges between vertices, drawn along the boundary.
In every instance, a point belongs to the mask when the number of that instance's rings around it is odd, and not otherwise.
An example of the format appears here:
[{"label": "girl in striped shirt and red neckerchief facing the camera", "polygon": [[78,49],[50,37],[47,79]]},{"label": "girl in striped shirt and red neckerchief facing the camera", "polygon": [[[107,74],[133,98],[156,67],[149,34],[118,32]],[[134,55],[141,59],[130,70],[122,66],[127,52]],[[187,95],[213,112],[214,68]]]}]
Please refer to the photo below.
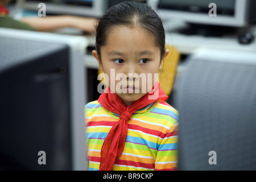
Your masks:
[{"label": "girl in striped shirt and red neckerchief facing the camera", "polygon": [[92,53],[109,79],[85,105],[89,170],[176,169],[178,112],[154,80],[168,52],[162,21],[146,4],[122,2],[101,17]]}]

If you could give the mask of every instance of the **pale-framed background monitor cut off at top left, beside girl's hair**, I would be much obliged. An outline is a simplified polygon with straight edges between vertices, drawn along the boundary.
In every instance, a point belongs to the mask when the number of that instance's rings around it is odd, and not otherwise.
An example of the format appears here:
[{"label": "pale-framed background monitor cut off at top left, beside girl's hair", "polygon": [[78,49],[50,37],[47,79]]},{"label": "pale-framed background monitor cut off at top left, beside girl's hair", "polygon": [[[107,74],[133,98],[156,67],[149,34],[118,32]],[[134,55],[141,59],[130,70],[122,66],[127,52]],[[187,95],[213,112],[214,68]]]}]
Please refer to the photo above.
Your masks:
[{"label": "pale-framed background monitor cut off at top left, beside girl's hair", "polygon": [[39,3],[45,3],[47,14],[98,17],[107,9],[107,2],[106,0],[22,0],[19,5],[27,10],[38,11]]}]

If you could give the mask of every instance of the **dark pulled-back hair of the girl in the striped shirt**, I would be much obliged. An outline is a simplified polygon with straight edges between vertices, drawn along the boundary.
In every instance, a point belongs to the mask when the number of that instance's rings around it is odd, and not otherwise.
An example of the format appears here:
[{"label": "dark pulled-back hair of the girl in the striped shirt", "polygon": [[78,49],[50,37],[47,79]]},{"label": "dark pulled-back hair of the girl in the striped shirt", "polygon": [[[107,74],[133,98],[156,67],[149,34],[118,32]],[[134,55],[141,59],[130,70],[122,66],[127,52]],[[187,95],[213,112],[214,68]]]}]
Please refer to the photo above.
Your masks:
[{"label": "dark pulled-back hair of the girl in the striped shirt", "polygon": [[113,26],[140,26],[155,37],[155,43],[160,48],[161,57],[165,54],[165,32],[162,20],[146,3],[122,2],[110,7],[101,16],[96,27],[96,51],[100,56],[100,48],[106,44],[109,29]]}]

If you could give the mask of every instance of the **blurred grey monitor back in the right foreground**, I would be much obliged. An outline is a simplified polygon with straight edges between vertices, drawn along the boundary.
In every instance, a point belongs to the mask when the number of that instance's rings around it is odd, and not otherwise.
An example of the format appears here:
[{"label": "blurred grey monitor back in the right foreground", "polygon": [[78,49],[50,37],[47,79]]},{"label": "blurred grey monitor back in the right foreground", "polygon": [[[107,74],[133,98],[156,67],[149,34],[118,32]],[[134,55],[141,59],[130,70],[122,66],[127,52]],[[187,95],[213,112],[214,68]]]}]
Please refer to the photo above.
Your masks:
[{"label": "blurred grey monitor back in the right foreground", "polygon": [[202,49],[175,93],[179,170],[256,169],[256,54]]}]

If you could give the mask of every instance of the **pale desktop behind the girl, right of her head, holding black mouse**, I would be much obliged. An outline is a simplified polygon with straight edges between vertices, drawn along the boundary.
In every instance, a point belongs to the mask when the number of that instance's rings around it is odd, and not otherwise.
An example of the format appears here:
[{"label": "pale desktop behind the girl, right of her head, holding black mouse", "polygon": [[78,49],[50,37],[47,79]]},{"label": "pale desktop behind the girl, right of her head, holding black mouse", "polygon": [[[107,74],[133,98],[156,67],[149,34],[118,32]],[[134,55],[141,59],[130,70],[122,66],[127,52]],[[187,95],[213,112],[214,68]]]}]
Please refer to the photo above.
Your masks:
[{"label": "pale desktop behind the girl, right of her head, holding black mouse", "polygon": [[[240,44],[236,34],[226,34],[222,37],[205,37],[200,35],[179,34],[179,28],[186,27],[184,22],[167,22],[164,24],[166,30],[166,43],[175,46],[181,54],[189,55],[197,48],[220,48],[234,51],[256,51],[256,40],[251,44]],[[244,29],[244,30],[243,30]],[[240,28],[240,31],[250,29],[256,36],[256,25],[250,28]]]}]

